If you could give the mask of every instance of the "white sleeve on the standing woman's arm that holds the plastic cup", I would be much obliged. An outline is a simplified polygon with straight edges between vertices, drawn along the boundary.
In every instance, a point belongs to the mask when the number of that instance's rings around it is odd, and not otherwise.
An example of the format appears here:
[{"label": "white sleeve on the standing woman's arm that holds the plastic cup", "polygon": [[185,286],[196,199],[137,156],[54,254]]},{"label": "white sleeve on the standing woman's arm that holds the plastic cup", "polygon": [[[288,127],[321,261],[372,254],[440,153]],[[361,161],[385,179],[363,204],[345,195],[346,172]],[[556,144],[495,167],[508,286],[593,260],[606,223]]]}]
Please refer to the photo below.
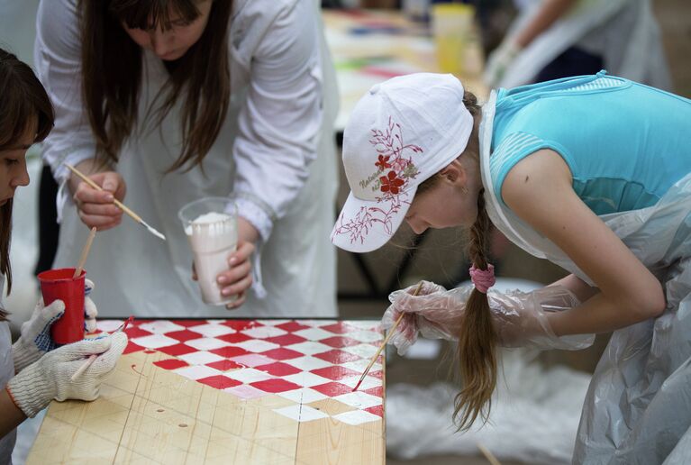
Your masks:
[{"label": "white sleeve on the standing woman's arm that holds the plastic cup", "polygon": [[238,214],[268,240],[305,186],[322,123],[318,25],[310,1],[277,14],[250,63],[233,147]]}]

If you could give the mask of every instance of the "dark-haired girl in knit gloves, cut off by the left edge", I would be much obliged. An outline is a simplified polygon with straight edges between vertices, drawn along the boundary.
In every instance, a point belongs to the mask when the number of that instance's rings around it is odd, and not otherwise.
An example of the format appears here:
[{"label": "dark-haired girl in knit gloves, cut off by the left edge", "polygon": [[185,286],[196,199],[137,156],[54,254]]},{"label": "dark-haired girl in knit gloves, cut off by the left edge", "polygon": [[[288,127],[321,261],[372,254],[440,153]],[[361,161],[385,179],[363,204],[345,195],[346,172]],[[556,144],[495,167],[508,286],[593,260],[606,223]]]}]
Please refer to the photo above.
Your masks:
[{"label": "dark-haired girl in knit gloves, cut off by the left edge", "polygon": [[[0,49],[0,295],[5,280],[8,295],[12,288],[12,199],[17,187],[29,184],[26,150],[42,141],[52,126],[50,100],[32,69]],[[98,397],[101,383],[114,370],[127,345],[127,336],[117,333],[55,349],[50,325],[64,310],[61,300],[44,306],[41,299],[32,318],[22,325],[21,337],[11,345],[7,313],[0,301],[0,463],[12,461],[15,428],[53,398]],[[93,365],[72,380],[91,355],[98,355]]]}]

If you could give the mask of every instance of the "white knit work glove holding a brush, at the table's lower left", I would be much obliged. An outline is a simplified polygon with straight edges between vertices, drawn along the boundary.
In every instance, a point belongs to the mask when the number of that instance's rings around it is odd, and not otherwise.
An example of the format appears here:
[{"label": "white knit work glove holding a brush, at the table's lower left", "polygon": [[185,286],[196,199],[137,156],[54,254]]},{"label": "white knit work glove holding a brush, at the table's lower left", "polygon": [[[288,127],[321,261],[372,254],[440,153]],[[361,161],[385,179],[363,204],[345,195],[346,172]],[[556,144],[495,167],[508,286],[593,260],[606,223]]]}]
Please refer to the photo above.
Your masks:
[{"label": "white knit work glove holding a brush, at the table's lower left", "polygon": [[[101,383],[115,369],[127,346],[124,333],[67,344],[45,354],[7,383],[7,392],[25,415],[33,417],[52,399],[94,400]],[[98,357],[81,375],[72,380],[89,356]]]}]

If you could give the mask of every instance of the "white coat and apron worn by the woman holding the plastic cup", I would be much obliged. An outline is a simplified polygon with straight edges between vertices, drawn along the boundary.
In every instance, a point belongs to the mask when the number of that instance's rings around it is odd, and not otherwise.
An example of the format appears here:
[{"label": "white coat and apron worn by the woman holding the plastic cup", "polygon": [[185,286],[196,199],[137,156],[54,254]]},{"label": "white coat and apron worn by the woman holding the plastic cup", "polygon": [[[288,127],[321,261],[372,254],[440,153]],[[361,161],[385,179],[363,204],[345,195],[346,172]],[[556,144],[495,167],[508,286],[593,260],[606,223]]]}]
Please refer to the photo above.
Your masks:
[{"label": "white coat and apron worn by the woman holding the plastic cup", "polygon": [[[336,315],[329,233],[337,187],[332,130],[337,95],[321,28],[314,0],[233,2],[231,109],[205,157],[205,172],[195,168],[163,176],[179,155],[180,116],[176,106],[159,127],[142,123],[167,78],[162,62],[144,51],[139,123],[116,169],[127,183],[125,205],[168,241],[126,215],[119,226],[96,236],[86,272],[96,283],[101,315]],[[44,160],[63,185],[56,268],[75,266],[87,233],[66,195],[68,170],[61,164],[94,156],[81,103],[79,49],[77,0],[41,1],[34,59],[57,116]],[[250,292],[232,313],[202,303],[177,218],[192,200],[229,195],[260,232],[255,275],[267,293],[262,299]]]}]

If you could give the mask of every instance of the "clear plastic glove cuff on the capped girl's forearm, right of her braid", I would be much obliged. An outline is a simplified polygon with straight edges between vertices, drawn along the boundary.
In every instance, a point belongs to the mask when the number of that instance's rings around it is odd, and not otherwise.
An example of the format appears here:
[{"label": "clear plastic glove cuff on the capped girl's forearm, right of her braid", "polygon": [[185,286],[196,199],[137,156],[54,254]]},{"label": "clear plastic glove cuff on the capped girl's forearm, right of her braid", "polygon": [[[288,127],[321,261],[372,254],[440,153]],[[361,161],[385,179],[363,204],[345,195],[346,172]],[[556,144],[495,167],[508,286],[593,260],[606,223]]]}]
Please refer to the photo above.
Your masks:
[{"label": "clear plastic glove cuff on the capped girl's forearm, right of her braid", "polygon": [[580,305],[566,287],[550,286],[532,292],[519,290],[487,294],[500,345],[577,351],[595,341],[595,334],[557,335],[547,315]]}]

